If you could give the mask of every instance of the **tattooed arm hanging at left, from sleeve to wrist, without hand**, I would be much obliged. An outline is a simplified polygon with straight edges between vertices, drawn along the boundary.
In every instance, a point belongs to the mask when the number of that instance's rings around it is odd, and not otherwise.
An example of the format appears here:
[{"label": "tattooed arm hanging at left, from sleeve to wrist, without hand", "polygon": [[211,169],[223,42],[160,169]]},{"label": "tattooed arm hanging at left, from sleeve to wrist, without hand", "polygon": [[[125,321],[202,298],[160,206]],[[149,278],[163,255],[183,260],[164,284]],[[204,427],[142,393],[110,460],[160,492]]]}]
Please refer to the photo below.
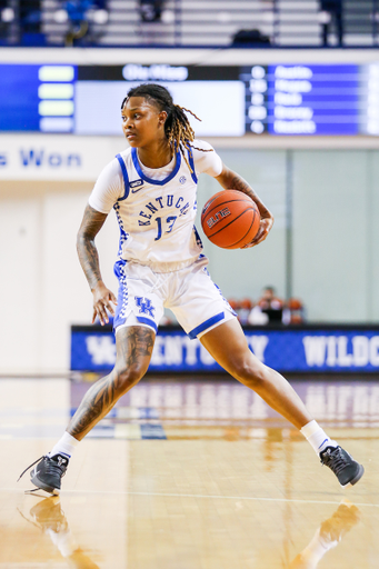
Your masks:
[{"label": "tattooed arm hanging at left, from sleeve to wrist, without hand", "polygon": [[106,219],[106,213],[100,213],[100,211],[96,211],[91,206],[87,206],[78,232],[77,251],[80,264],[91,289],[101,280],[99,254],[94,244],[94,238],[102,228]]}]

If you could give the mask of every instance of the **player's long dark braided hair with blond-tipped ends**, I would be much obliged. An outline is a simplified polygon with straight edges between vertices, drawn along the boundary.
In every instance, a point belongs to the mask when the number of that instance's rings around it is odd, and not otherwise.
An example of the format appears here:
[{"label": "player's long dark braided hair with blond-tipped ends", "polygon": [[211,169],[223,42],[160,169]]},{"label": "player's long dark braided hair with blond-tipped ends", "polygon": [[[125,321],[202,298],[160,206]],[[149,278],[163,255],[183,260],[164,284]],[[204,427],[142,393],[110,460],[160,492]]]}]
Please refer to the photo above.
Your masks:
[{"label": "player's long dark braided hair with blond-tipped ends", "polygon": [[174,153],[180,150],[190,172],[193,173],[192,168],[188,162],[187,152],[184,152],[184,149],[191,151],[191,148],[195,148],[201,152],[211,152],[212,149],[205,150],[202,148],[196,148],[191,144],[191,142],[195,140],[195,132],[186,112],[192,114],[192,117],[195,117],[197,120],[201,121],[201,119],[199,119],[199,117],[197,117],[195,112],[190,111],[189,109],[179,107],[179,104],[174,104],[169,91],[164,87],[157,83],[142,83],[138,87],[132,87],[122,101],[121,110],[131,97],[143,97],[148,101],[158,104],[160,111],[167,112],[164,133],[168,138],[168,142]]}]

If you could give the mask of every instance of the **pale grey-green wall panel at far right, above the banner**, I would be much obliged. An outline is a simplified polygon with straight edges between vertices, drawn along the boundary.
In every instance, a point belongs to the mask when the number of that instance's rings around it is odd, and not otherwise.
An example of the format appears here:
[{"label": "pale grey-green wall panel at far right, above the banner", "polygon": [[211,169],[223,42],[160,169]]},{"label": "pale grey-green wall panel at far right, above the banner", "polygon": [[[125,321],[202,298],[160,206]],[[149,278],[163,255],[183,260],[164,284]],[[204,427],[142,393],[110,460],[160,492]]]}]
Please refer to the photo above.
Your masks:
[{"label": "pale grey-green wall panel at far right, above the banner", "polygon": [[368,166],[365,151],[295,154],[293,292],[313,321],[371,320]]}]

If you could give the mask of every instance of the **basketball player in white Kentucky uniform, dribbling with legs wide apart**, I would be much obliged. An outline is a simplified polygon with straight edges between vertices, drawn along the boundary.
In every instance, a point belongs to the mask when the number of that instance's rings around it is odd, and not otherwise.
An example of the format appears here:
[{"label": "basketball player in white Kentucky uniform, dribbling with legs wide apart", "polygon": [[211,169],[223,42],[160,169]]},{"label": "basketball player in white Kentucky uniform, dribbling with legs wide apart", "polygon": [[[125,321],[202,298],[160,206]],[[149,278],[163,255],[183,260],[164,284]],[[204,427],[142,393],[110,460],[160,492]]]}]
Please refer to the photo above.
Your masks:
[{"label": "basketball player in white Kentucky uniform, dribbling with legs wide apart", "polygon": [[[195,140],[184,111],[173,104],[163,87],[152,83],[131,89],[122,102],[122,129],[130,148],[100,173],[78,233],[79,259],[93,295],[93,320],[99,317],[104,325],[108,312],[114,316],[116,366],[87,391],[52,450],[29,467],[38,462],[31,481],[37,488],[59,492],[76,447],[144,376],[163,307],[168,307],[189,337],[199,338],[223,369],[300,429],[341,486],[355,485],[363,467],[312,420],[286,379],[253,356],[236,313],[209,277],[193,226],[200,173],[257,203],[260,228],[247,247],[267,238],[273,217],[210,144]],[[112,208],[120,227],[114,266],[118,298],[102,281],[94,244]]]}]

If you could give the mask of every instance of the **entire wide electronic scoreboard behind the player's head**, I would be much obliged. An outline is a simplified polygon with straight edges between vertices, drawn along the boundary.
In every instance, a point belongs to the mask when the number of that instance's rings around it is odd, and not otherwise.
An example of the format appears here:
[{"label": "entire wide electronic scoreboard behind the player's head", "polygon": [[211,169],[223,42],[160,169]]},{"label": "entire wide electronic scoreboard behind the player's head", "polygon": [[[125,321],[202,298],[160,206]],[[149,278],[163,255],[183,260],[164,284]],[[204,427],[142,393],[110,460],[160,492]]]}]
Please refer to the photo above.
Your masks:
[{"label": "entire wide electronic scoreboard behind the player's head", "polygon": [[142,82],[200,119],[197,136],[379,136],[379,61],[369,64],[0,64],[0,131],[121,134]]}]

